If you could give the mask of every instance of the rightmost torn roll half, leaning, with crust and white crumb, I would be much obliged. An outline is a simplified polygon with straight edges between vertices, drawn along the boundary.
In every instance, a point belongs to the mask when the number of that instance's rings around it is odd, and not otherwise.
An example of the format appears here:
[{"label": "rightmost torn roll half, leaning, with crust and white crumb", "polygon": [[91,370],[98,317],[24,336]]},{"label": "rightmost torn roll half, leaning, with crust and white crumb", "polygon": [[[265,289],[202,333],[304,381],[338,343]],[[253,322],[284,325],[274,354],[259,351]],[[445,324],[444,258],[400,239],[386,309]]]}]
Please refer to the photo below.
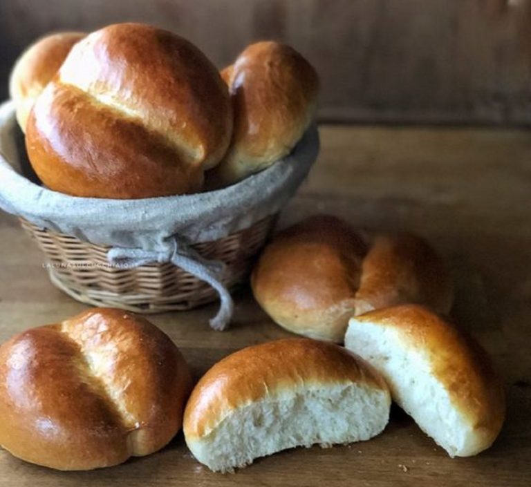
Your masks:
[{"label": "rightmost torn roll half, leaning, with crust and white crumb", "polygon": [[505,401],[487,354],[428,309],[351,318],[345,346],[382,372],[394,401],[450,457],[476,455],[498,436]]}]

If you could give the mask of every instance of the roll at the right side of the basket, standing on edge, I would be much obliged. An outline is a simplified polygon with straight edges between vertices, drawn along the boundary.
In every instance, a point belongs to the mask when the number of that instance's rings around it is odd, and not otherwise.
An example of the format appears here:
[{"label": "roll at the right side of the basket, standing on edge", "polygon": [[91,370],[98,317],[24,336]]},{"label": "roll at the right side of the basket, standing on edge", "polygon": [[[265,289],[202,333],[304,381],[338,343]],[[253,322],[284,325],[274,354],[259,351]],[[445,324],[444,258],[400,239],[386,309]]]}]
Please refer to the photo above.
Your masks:
[{"label": "roll at the right side of the basket, standing on edge", "polygon": [[223,187],[288,155],[310,125],[319,79],[296,50],[277,42],[248,46],[222,71],[234,106],[234,132],[207,187]]}]

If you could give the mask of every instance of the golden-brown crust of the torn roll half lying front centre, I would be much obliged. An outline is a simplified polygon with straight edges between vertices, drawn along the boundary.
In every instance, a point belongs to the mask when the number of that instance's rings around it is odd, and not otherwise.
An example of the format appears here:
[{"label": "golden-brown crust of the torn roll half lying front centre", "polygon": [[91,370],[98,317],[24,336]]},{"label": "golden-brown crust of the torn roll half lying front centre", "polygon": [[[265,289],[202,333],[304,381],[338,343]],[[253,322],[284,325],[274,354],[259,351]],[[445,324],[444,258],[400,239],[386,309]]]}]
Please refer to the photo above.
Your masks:
[{"label": "golden-brown crust of the torn roll half lying front centre", "polygon": [[333,343],[287,338],[244,348],[216,363],[197,383],[185,410],[186,441],[208,435],[228,414],[253,401],[352,382],[388,390],[368,363]]}]

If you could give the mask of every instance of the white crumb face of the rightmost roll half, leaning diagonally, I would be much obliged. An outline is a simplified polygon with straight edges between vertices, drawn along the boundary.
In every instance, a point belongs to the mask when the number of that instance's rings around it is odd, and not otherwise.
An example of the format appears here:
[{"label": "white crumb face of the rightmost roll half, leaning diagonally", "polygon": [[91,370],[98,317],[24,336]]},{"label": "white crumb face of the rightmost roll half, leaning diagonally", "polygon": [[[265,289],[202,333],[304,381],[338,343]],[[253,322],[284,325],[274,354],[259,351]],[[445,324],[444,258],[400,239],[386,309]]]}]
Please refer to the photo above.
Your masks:
[{"label": "white crumb face of the rightmost roll half, leaning diagonally", "polygon": [[393,329],[351,318],[345,346],[371,363],[389,385],[393,400],[450,457],[476,455],[478,431],[451,402],[448,390],[431,372],[423,350],[400,343]]}]

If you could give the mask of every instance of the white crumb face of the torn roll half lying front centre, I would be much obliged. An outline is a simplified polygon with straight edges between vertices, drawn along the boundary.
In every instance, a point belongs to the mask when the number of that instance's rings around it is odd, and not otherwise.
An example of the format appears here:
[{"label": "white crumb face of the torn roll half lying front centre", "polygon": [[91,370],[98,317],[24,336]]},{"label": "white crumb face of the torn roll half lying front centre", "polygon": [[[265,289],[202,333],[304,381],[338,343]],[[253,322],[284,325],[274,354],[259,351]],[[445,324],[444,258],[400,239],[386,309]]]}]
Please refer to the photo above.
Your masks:
[{"label": "white crumb face of the torn roll half lying front centre", "polygon": [[236,408],[187,444],[203,464],[227,472],[287,448],[370,439],[389,421],[390,403],[386,390],[355,383],[286,390]]}]

